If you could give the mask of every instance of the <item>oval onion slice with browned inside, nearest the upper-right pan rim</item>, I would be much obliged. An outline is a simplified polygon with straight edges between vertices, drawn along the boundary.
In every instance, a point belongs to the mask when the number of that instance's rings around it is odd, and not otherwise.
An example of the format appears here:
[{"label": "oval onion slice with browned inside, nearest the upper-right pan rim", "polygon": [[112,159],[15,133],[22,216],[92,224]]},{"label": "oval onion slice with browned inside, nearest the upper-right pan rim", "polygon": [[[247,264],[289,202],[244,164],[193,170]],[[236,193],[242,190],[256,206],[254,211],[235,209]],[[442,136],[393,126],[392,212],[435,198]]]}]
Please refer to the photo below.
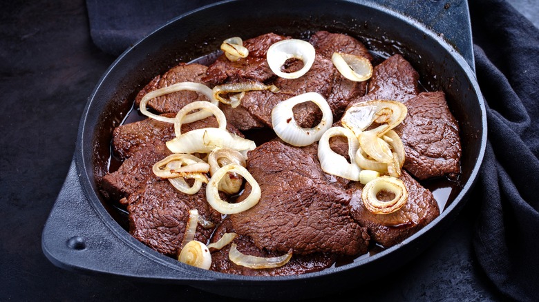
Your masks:
[{"label": "oval onion slice with browned inside, nearest the upper-right pan rim", "polygon": [[366,57],[334,52],[331,61],[343,77],[350,81],[362,82],[372,77],[372,64]]}]

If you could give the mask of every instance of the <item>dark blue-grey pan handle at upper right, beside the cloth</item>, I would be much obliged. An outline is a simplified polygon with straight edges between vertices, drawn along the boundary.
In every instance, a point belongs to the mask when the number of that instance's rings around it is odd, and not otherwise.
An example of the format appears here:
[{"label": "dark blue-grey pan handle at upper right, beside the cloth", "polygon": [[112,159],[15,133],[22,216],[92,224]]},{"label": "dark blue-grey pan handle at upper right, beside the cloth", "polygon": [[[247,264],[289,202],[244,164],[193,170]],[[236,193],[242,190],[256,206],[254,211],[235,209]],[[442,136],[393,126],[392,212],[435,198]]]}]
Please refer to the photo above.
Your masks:
[{"label": "dark blue-grey pan handle at upper right, beside the cloth", "polygon": [[475,71],[470,10],[467,0],[377,0],[441,35]]}]

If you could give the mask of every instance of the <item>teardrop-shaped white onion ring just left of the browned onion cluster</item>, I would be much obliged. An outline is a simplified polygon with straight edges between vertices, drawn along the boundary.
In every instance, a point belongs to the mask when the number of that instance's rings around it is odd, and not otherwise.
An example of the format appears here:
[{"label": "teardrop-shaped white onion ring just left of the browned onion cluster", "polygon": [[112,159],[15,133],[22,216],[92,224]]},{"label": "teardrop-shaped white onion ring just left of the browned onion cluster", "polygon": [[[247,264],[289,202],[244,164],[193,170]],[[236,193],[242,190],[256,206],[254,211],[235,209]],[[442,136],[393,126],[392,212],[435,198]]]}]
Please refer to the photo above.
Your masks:
[{"label": "teardrop-shaped white onion ring just left of the browned onion cluster", "polygon": [[321,168],[326,173],[352,181],[359,181],[361,168],[357,163],[353,160],[352,163],[348,163],[346,158],[334,152],[330,147],[330,139],[338,135],[348,139],[348,156],[350,159],[354,159],[354,154],[357,152],[359,145],[354,132],[343,127],[332,127],[324,132],[318,143],[318,158]]}]

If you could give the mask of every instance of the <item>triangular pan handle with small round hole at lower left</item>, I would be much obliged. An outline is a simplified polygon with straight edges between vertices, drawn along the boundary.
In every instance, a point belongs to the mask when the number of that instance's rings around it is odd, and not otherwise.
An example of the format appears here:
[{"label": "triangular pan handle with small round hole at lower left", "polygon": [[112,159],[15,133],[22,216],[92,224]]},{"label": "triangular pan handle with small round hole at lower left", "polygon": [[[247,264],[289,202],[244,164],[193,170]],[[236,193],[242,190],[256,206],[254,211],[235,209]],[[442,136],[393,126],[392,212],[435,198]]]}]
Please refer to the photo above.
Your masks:
[{"label": "triangular pan handle with small round hole at lower left", "polygon": [[[84,193],[73,160],[41,234],[41,248],[53,264],[75,272],[164,279],[180,284],[214,280],[190,272],[190,268],[182,268],[183,264],[174,263],[157,252],[144,252],[142,243],[122,239],[119,231],[122,230],[113,230],[95,212]],[[139,248],[138,244],[141,245]]]}]

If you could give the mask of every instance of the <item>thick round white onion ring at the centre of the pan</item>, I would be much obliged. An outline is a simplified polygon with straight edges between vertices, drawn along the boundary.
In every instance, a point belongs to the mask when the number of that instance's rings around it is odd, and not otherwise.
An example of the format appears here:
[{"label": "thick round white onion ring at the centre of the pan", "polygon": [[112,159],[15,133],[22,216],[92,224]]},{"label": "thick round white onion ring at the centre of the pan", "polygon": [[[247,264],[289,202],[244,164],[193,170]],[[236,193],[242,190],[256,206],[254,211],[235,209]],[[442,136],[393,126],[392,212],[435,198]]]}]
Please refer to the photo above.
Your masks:
[{"label": "thick round white onion ring at the centre of the pan", "polygon": [[[294,119],[292,109],[294,105],[312,101],[322,110],[322,119],[314,128],[301,128]],[[275,105],[272,110],[273,130],[283,141],[301,147],[310,145],[318,141],[322,134],[331,128],[333,124],[333,113],[330,105],[324,97],[317,92],[306,92],[296,95]]]}]

